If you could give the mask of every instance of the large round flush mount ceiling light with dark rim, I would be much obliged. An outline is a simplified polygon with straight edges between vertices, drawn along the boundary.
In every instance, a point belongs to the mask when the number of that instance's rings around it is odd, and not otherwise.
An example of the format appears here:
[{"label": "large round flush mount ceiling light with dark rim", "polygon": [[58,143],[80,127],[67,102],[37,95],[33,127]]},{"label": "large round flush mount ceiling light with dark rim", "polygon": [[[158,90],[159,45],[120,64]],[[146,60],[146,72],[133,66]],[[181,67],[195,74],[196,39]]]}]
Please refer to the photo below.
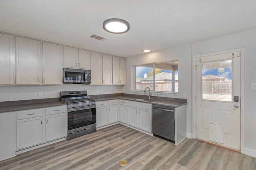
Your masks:
[{"label": "large round flush mount ceiling light with dark rim", "polygon": [[122,34],[128,32],[130,24],[119,18],[111,18],[103,22],[103,28],[110,33]]}]

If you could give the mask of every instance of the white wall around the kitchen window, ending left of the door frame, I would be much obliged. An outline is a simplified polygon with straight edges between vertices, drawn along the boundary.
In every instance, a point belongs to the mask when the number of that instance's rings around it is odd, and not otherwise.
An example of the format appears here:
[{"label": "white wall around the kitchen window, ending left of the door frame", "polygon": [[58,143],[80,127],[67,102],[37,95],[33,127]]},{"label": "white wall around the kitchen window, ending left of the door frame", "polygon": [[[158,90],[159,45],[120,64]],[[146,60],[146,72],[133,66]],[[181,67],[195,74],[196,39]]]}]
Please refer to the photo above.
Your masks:
[{"label": "white wall around the kitchen window, ending left of the door frame", "polygon": [[[144,53],[142,55],[136,55],[133,57],[127,57],[127,84],[123,87],[125,93],[130,94],[140,94],[148,95],[144,91],[134,91],[131,87],[131,84],[134,85],[134,71],[132,72],[132,66],[141,65],[145,63],[157,63],[164,61],[172,61],[178,59],[178,70],[179,70],[179,94],[170,94],[170,93],[154,93],[152,96],[161,96],[161,97],[174,97],[187,99],[187,132],[191,133],[191,47],[192,44],[178,45],[175,47],[170,47],[162,49],[160,51],[155,51],[151,53]],[[182,93],[186,93],[186,97],[182,97]]]}]

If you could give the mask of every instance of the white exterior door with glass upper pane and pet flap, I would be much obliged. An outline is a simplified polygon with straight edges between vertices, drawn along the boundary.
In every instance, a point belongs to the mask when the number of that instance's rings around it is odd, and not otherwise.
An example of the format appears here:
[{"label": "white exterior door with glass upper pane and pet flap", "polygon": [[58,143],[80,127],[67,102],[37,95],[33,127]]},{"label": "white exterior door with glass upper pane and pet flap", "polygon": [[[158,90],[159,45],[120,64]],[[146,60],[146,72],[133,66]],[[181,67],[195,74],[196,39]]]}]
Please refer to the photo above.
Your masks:
[{"label": "white exterior door with glass upper pane and pet flap", "polygon": [[241,51],[196,59],[196,137],[240,150]]}]

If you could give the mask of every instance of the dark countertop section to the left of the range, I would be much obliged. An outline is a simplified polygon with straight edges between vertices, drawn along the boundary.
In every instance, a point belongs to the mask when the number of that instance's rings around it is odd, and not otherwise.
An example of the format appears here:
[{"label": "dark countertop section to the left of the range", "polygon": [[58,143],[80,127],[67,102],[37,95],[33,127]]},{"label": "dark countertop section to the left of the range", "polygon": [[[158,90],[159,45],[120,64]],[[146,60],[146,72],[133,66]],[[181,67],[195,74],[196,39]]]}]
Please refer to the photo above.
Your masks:
[{"label": "dark countertop section to the left of the range", "polygon": [[5,112],[15,112],[21,110],[28,110],[28,109],[39,109],[44,107],[53,107],[53,106],[60,106],[60,105],[67,105],[61,101],[55,102],[46,102],[46,103],[32,103],[32,104],[22,104],[22,105],[13,105],[13,106],[2,106],[0,107],[0,113]]}]

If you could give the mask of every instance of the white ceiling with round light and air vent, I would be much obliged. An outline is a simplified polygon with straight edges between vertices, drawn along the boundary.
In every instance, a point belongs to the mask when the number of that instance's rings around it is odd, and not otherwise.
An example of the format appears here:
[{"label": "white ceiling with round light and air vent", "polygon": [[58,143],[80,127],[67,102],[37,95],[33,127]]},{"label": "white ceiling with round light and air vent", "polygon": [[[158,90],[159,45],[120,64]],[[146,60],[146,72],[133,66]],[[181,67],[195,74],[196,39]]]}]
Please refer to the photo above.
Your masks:
[{"label": "white ceiling with round light and air vent", "polygon": [[[256,0],[0,0],[0,30],[129,57],[255,29],[255,9]],[[106,32],[110,18],[130,30]]]}]

